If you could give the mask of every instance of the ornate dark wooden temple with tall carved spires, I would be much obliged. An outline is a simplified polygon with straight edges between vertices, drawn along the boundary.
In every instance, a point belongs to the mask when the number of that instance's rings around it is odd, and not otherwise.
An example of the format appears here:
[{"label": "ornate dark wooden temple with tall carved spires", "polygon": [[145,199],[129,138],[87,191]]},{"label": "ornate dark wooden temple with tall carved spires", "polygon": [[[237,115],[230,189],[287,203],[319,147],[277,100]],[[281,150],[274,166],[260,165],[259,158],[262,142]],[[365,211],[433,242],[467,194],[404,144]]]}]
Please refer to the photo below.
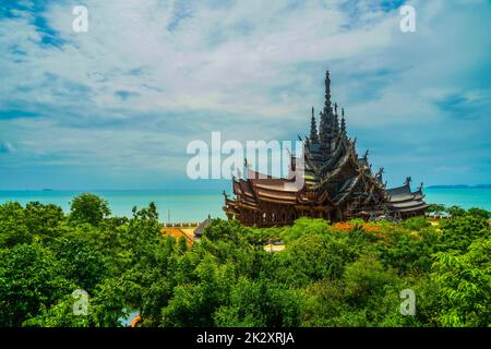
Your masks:
[{"label": "ornate dark wooden temple with tall carved spires", "polygon": [[[225,192],[224,210],[229,219],[247,226],[272,227],[292,224],[299,217],[340,221],[351,218],[423,215],[422,183],[416,192],[410,178],[403,186],[386,189],[383,168],[372,171],[367,151],[359,157],[356,139],[346,132],[345,111],[331,103],[330,72],[325,74],[325,103],[319,132],[312,108],[310,136],[302,139],[303,156],[291,156],[288,178],[259,173],[246,161],[246,178],[232,178],[235,197]],[[298,176],[302,177],[298,185]]]}]

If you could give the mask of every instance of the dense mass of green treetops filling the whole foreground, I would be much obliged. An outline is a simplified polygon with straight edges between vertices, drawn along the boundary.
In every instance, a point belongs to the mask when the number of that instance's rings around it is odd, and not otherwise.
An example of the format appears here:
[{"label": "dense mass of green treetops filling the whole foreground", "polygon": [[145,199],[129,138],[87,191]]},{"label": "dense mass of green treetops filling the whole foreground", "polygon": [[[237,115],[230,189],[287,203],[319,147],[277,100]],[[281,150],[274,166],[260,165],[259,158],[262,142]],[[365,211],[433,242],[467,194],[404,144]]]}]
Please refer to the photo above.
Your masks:
[{"label": "dense mass of green treetops filling the whole foreground", "polygon": [[[83,194],[60,207],[0,205],[0,326],[489,326],[488,213],[451,207],[430,225],[300,218],[250,228],[215,219],[200,242],[163,237],[157,209],[108,217]],[[434,207],[442,210],[442,207]],[[264,251],[283,241],[282,252]],[[72,292],[88,293],[88,315]],[[417,297],[399,313],[403,289]]]}]

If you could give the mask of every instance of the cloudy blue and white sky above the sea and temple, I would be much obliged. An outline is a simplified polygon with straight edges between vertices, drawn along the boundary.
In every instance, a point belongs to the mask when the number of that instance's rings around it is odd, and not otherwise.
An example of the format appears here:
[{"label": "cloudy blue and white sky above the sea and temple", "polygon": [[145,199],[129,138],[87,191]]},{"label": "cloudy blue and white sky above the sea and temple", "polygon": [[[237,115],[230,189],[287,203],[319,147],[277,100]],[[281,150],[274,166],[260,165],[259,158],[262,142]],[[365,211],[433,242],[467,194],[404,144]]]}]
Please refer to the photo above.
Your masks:
[{"label": "cloudy blue and white sky above the sea and temple", "polygon": [[0,190],[220,186],[187,145],[307,135],[326,70],[388,186],[491,183],[490,1],[0,0]]}]

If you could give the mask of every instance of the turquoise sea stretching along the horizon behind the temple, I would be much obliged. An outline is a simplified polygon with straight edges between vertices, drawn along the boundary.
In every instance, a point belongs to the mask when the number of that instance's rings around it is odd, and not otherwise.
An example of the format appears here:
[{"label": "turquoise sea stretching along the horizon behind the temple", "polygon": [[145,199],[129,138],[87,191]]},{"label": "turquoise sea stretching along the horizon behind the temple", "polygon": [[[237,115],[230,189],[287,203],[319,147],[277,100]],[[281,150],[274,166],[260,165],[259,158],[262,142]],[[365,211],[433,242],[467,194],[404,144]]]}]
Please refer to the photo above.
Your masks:
[{"label": "turquoise sea stretching along the horizon behind the temple", "polygon": [[[225,218],[224,196],[219,190],[121,190],[91,191],[109,202],[113,216],[132,216],[132,208],[154,202],[160,221],[202,221],[211,217]],[[56,204],[69,212],[71,200],[83,191],[0,191],[0,203],[16,201],[25,205],[32,201]],[[491,210],[491,189],[424,189],[428,203],[464,208]]]}]

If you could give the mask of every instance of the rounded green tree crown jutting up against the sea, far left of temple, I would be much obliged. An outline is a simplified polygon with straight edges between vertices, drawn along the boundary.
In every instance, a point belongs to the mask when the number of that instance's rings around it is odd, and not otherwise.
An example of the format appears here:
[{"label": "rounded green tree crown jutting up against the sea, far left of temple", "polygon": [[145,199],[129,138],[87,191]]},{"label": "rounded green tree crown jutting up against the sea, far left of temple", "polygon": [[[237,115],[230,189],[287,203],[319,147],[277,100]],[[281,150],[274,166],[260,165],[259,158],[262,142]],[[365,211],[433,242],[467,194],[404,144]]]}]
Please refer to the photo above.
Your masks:
[{"label": "rounded green tree crown jutting up against the sea, far left of temple", "polygon": [[74,197],[70,204],[70,219],[76,224],[98,226],[110,214],[107,201],[89,193]]}]

